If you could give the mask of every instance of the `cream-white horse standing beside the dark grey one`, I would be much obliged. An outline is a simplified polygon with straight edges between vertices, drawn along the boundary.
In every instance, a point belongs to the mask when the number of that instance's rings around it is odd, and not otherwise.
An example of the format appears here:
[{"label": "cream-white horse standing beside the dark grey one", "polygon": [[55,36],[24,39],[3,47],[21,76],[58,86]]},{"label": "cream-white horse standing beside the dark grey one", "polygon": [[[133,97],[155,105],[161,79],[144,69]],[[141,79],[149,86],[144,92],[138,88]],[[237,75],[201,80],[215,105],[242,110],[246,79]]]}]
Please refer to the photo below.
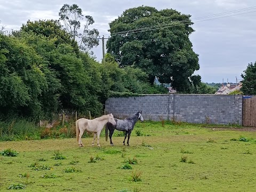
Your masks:
[{"label": "cream-white horse standing beside the dark grey one", "polygon": [[84,131],[93,132],[93,141],[92,146],[94,145],[94,140],[96,135],[98,136],[98,146],[100,147],[100,132],[103,129],[104,125],[109,122],[113,125],[116,124],[114,116],[112,114],[102,115],[101,117],[94,119],[80,118],[76,121],[76,139],[78,141],[78,146],[83,147],[82,135]]}]

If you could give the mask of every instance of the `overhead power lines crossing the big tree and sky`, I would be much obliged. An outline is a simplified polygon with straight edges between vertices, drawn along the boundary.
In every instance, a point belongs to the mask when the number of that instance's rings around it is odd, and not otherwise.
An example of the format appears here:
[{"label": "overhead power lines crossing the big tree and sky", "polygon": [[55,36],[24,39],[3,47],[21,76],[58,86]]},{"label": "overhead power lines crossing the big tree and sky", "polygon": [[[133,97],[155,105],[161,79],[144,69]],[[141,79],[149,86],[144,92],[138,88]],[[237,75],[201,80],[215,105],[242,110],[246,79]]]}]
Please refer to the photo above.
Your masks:
[{"label": "overhead power lines crossing the big tree and sky", "polygon": [[[208,20],[214,20],[214,19],[220,19],[220,18],[232,17],[232,16],[235,16],[235,15],[241,15],[241,14],[256,12],[256,11],[251,11],[251,12],[244,12],[244,13],[238,13],[238,14],[232,14],[232,15],[226,15],[226,16],[223,16],[223,17],[218,17],[218,16],[220,16],[220,15],[231,14],[231,13],[237,13],[237,12],[242,12],[242,11],[249,11],[249,10],[253,10],[253,9],[256,9],[256,6],[247,7],[247,8],[244,8],[244,9],[239,9],[239,10],[234,10],[234,11],[228,11],[228,12],[223,12],[223,13],[217,13],[217,14],[207,15],[207,16],[204,16],[204,17],[198,17],[198,18],[195,18],[194,20],[205,19],[205,18],[211,18],[211,17],[217,17],[217,18],[212,18],[212,19],[201,20],[201,21],[208,21]],[[201,22],[201,21],[195,21],[195,22]],[[131,34],[131,33],[144,32],[144,31],[148,31],[148,30],[160,29],[161,27],[162,27],[162,28],[175,27],[175,26],[190,24],[191,22],[192,22],[192,21],[191,21],[190,19],[189,19],[189,20],[183,20],[183,21],[173,21],[172,23],[165,23],[165,24],[162,24],[162,25],[156,25],[156,26],[142,27],[142,28],[138,28],[138,29],[120,31],[120,32],[111,34],[111,36],[117,36],[117,35],[125,35],[125,34]]]}]

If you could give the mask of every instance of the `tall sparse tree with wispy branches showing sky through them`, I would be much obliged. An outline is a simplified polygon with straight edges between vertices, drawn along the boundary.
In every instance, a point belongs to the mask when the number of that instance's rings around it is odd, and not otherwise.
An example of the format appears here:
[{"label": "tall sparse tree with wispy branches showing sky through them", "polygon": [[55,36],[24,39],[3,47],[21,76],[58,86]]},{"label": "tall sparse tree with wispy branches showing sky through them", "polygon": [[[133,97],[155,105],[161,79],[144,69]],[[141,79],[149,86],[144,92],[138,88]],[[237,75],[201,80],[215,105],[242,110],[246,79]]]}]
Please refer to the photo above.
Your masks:
[{"label": "tall sparse tree with wispy branches showing sky through them", "polygon": [[[88,52],[93,46],[99,45],[99,39],[97,39],[99,31],[88,28],[94,23],[93,18],[90,15],[84,16],[78,5],[64,4],[60,9],[59,16],[65,29],[71,35],[71,39],[78,42],[81,50]],[[84,27],[82,33],[80,33],[79,29],[82,23],[84,23]]]}]

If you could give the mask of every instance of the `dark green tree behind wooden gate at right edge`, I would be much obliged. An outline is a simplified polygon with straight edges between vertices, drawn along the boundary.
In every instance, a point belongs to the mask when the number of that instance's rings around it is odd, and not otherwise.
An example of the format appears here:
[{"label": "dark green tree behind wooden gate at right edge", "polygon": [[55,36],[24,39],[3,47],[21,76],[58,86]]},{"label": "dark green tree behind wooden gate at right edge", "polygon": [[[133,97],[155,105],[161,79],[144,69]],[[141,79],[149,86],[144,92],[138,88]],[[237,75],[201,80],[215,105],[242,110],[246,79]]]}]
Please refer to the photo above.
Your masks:
[{"label": "dark green tree behind wooden gate at right edge", "polygon": [[256,62],[249,63],[246,70],[243,71],[244,74],[241,75],[243,78],[243,86],[241,91],[246,95],[256,94]]}]

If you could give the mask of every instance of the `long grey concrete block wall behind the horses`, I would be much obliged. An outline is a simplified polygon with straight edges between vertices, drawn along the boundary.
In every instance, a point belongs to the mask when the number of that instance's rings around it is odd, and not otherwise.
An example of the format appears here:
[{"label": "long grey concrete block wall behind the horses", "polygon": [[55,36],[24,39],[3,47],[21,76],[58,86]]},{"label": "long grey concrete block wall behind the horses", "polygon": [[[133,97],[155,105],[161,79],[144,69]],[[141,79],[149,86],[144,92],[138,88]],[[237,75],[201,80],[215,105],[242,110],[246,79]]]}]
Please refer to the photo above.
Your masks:
[{"label": "long grey concrete block wall behind the horses", "polygon": [[129,117],[142,110],[144,119],[175,119],[189,123],[241,124],[242,95],[150,94],[140,97],[109,98],[107,113]]}]

